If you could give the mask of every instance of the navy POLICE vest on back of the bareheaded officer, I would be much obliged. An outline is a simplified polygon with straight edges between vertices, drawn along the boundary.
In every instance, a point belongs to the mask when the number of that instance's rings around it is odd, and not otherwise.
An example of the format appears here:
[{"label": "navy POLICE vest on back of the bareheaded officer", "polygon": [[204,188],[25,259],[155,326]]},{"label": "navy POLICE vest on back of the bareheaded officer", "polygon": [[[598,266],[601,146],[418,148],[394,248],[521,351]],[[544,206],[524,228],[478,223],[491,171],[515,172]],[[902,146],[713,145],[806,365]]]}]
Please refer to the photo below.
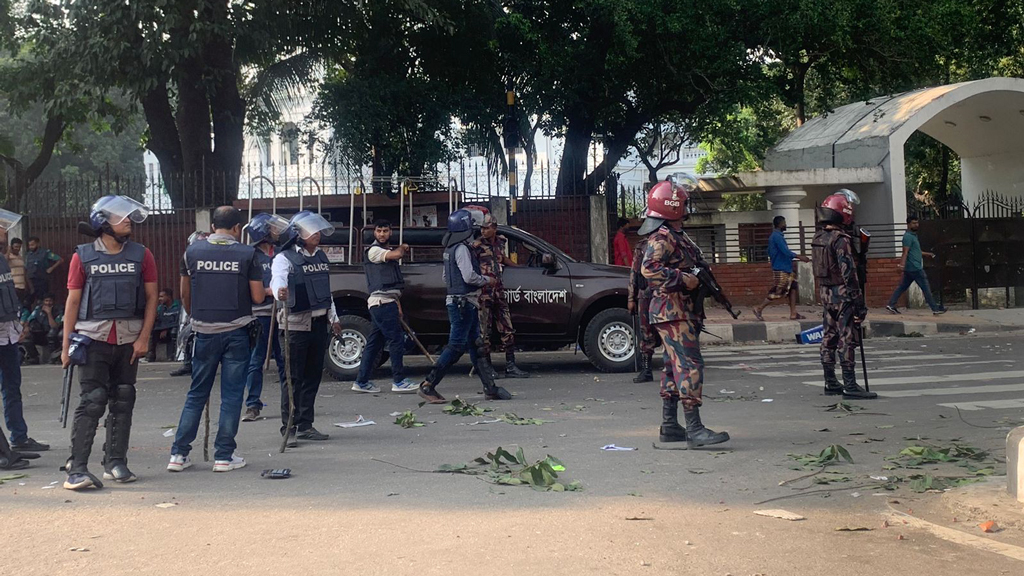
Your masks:
[{"label": "navy POLICE vest on back of the bareheaded officer", "polygon": [[200,240],[185,250],[191,281],[191,316],[200,322],[233,322],[252,316],[249,266],[253,247]]}]

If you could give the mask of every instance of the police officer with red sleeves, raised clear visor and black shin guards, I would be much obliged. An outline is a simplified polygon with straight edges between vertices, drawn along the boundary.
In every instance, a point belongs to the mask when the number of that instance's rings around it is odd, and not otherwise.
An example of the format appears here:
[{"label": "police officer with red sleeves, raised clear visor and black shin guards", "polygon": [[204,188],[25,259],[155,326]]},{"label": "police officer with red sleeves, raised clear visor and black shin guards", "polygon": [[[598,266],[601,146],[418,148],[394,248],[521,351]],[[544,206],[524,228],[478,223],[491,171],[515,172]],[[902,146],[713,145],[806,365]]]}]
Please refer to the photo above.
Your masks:
[{"label": "police officer with red sleeves, raised clear visor and black shin guards", "polygon": [[142,204],[125,196],[104,196],[79,232],[95,237],[75,250],[68,276],[63,352],[73,332],[91,338],[79,370],[81,402],[72,424],[71,458],[65,488],[102,487],[89,472],[89,454],[99,417],[110,406],[103,445],[103,478],[134,482],[128,468],[132,409],[135,406],[136,360],[150,349],[157,319],[157,263],[147,248],[130,240],[132,225],[148,215]]}]

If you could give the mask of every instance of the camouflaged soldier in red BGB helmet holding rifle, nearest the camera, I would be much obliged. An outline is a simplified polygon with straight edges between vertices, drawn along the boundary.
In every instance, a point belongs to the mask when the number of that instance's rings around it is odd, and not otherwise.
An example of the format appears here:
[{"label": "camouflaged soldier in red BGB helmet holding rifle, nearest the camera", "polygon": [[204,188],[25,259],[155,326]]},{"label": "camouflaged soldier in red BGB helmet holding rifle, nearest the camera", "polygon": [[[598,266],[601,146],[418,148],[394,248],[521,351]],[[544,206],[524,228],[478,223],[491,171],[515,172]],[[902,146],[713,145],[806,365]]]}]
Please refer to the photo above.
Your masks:
[{"label": "camouflaged soldier in red BGB helmet holding rifle, nearest the camera", "polygon": [[[683,232],[689,189],[675,181],[654,184],[647,194],[647,218],[640,234],[651,234],[641,269],[651,290],[650,323],[665,343],[662,374],[662,442],[686,441],[690,448],[720,444],[727,433],[708,429],[700,422],[703,358],[700,329],[703,313],[697,302],[699,281],[683,272],[700,259],[700,249]],[[679,425],[683,405],[686,428]]]}]

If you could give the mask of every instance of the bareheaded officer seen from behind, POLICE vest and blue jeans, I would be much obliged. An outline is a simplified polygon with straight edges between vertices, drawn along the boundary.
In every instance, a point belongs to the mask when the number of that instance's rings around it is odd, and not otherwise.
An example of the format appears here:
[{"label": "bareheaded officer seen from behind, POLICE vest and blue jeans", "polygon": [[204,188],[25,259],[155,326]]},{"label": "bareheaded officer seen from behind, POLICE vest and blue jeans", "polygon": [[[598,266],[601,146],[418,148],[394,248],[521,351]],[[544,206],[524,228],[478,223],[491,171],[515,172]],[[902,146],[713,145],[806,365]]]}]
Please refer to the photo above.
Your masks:
[{"label": "bareheaded officer seen from behind, POLICE vest and blue jeans", "polygon": [[199,431],[203,408],[210,399],[218,366],[220,417],[213,444],[213,471],[226,472],[246,465],[246,461],[234,454],[234,435],[242,417],[249,359],[260,335],[259,325],[253,317],[253,304],[263,301],[266,289],[256,250],[239,242],[242,221],[238,208],[217,208],[213,211],[213,234],[185,250],[186,275],[181,277],[181,305],[191,315],[196,352],[191,387],[171,445],[168,471],[181,471],[191,465],[188,453]]}]

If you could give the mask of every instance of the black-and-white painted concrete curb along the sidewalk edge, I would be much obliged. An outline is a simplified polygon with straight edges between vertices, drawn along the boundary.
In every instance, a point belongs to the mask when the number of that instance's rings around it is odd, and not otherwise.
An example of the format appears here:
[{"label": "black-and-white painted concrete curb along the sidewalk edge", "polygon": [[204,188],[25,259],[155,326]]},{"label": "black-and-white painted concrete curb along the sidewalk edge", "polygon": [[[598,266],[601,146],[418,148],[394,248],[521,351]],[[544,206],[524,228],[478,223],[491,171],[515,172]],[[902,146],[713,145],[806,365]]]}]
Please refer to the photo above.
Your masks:
[{"label": "black-and-white painted concrete curb along the sidewalk edge", "polygon": [[[740,322],[728,324],[708,324],[705,329],[716,337],[705,337],[705,343],[737,342],[788,342],[796,341],[797,333],[819,326],[817,320],[788,322]],[[974,329],[975,332],[1011,332],[1024,330],[1024,326],[982,324],[961,324],[951,322],[919,322],[901,320],[868,320],[864,323],[864,335],[868,338],[885,336],[905,336],[911,333],[924,335],[958,334]],[[817,345],[810,344],[810,345]]]}]

